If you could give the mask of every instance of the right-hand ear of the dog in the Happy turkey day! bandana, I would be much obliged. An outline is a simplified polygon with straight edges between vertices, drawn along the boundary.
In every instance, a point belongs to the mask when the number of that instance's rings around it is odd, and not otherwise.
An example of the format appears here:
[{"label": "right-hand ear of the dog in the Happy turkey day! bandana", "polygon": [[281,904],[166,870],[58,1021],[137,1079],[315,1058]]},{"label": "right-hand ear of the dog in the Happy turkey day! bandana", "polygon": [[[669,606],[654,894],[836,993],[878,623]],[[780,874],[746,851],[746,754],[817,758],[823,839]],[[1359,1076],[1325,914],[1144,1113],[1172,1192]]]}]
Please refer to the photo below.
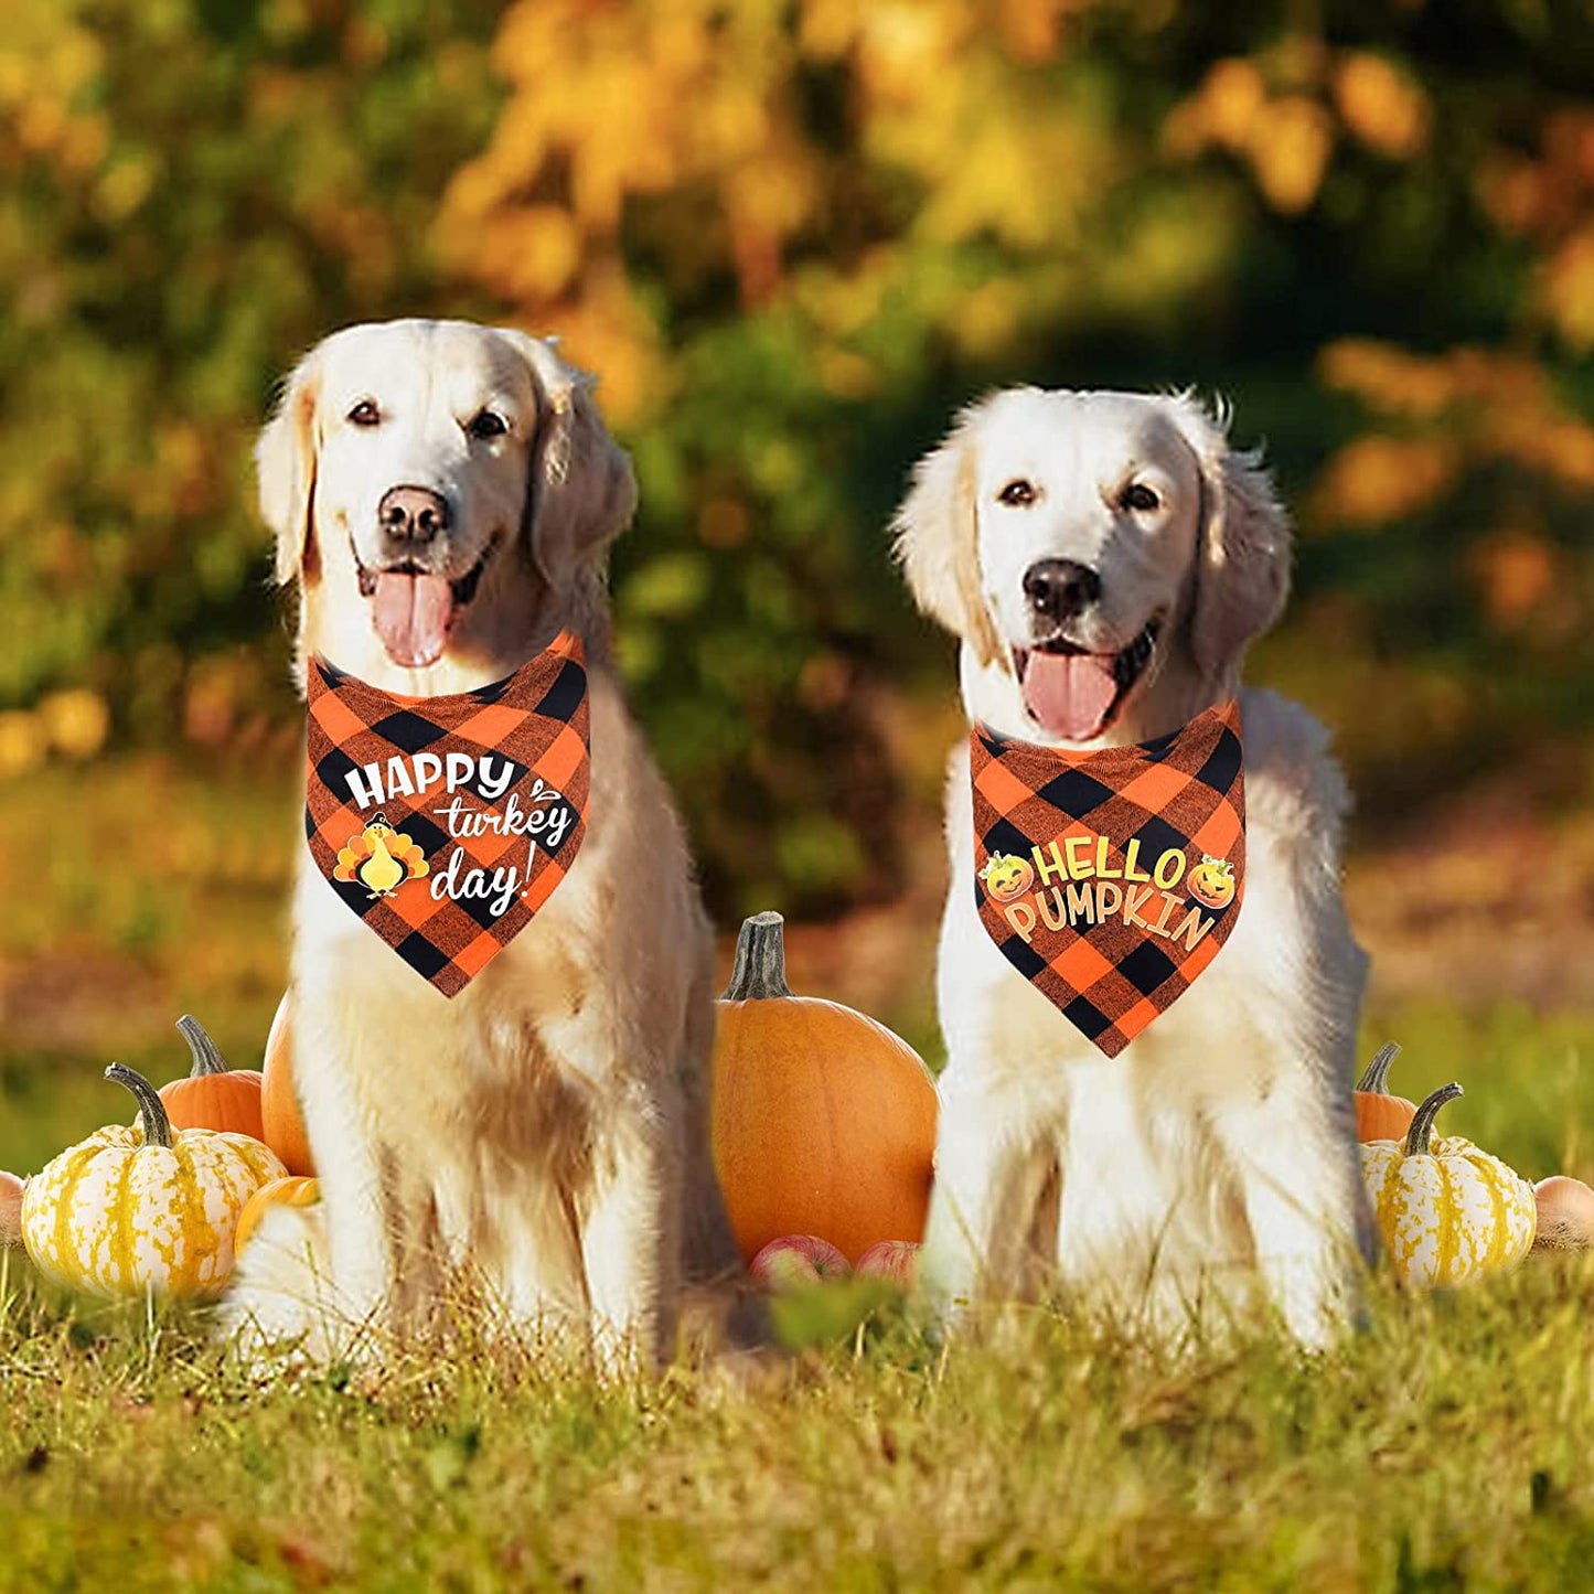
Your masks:
[{"label": "right-hand ear of the dog in the Happy turkey day! bandana", "polygon": [[603,424],[593,378],[561,360],[550,341],[513,327],[501,332],[537,386],[524,516],[531,556],[548,585],[563,590],[625,531],[636,510],[636,477]]}]

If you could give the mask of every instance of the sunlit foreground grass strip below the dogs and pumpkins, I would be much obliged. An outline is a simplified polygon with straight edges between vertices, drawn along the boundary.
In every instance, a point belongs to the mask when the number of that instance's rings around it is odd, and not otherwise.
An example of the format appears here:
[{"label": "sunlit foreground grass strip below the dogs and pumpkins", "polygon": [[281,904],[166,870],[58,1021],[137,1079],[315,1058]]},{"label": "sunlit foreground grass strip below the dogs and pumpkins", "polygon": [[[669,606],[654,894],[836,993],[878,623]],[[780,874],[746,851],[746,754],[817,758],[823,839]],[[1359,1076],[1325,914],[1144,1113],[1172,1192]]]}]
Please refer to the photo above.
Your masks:
[{"label": "sunlit foreground grass strip below the dogs and pumpkins", "polygon": [[6,1305],[0,1584],[1521,1589],[1594,1554],[1594,1269],[1380,1293],[1318,1363],[1050,1313],[604,1392],[488,1356],[257,1390],[180,1325]]}]

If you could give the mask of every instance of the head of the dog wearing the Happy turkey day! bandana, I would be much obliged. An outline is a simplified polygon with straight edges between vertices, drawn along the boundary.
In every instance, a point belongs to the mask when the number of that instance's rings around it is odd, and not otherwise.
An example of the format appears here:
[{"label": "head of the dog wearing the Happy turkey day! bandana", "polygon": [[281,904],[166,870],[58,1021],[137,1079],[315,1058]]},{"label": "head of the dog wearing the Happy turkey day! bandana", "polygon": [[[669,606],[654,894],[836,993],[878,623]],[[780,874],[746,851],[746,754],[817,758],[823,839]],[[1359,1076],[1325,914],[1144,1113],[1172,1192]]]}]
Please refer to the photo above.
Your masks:
[{"label": "head of the dog wearing the Happy turkey day! bandana", "polygon": [[550,344],[469,322],[349,327],[312,349],[257,450],[311,646],[368,679],[491,660],[590,577],[636,504],[590,387]]}]

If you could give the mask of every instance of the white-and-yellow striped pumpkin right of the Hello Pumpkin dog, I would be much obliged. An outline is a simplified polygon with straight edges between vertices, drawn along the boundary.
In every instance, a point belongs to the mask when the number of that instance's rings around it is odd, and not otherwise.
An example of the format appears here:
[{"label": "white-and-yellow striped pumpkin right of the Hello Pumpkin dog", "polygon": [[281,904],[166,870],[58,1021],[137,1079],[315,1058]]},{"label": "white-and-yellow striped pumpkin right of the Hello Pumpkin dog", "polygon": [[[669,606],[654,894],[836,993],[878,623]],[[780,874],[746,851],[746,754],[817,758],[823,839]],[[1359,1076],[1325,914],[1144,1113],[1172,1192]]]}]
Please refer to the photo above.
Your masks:
[{"label": "white-and-yellow striped pumpkin right of the Hello Pumpkin dog", "polygon": [[1433,1117],[1462,1093],[1435,1090],[1406,1138],[1361,1146],[1379,1232],[1395,1270],[1414,1290],[1460,1285],[1514,1267],[1533,1243],[1533,1186],[1460,1135],[1433,1133]]}]

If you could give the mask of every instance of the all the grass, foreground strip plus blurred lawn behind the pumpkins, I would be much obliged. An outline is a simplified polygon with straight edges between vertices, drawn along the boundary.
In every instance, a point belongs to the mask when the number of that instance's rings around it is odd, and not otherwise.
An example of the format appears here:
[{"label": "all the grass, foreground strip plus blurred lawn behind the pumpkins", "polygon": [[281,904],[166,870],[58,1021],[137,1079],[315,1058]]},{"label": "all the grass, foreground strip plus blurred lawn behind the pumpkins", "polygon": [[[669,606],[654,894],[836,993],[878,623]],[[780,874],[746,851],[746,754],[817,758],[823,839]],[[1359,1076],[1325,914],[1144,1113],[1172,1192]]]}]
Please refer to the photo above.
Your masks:
[{"label": "all the grass, foreground strip plus blurred lawn behind the pumpkins", "polygon": [[[0,1035],[18,1172],[126,1116],[99,1079],[113,1055],[180,1071],[185,1009],[255,1062],[282,977],[290,802],[167,770],[102,771],[91,797],[51,781],[8,794],[10,834],[37,845],[0,859],[0,1011],[27,1017]],[[182,823],[151,824],[151,802]],[[21,859],[64,830],[81,846],[21,889]],[[1364,1035],[1406,1046],[1406,1095],[1466,1086],[1452,1132],[1532,1178],[1594,1178],[1594,1014],[1436,996],[1376,1007]],[[838,1298],[843,1321],[799,1349],[693,1352],[622,1390],[470,1350],[375,1387],[255,1387],[193,1313],[70,1302],[16,1253],[0,1269],[0,1591],[1591,1576],[1594,1258],[1433,1299],[1380,1282],[1369,1329],[1318,1361],[1266,1333],[1172,1361],[1039,1309],[940,1352],[891,1304],[859,1320]]]}]

